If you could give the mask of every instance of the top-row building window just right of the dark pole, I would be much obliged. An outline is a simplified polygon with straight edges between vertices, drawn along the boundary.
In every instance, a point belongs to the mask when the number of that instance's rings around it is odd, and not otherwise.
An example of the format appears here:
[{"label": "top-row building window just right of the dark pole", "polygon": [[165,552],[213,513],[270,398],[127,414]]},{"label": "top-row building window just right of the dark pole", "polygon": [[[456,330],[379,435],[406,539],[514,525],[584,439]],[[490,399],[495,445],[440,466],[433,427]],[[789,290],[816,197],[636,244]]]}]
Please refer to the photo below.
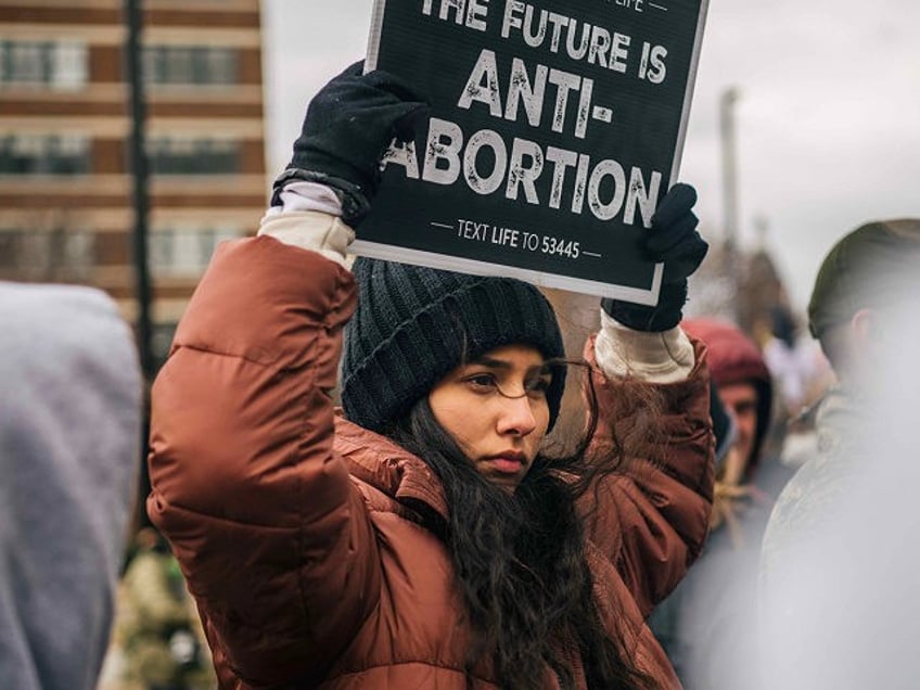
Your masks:
[{"label": "top-row building window just right of the dark pole", "polygon": [[239,54],[232,48],[148,46],[143,75],[154,85],[237,84]]}]

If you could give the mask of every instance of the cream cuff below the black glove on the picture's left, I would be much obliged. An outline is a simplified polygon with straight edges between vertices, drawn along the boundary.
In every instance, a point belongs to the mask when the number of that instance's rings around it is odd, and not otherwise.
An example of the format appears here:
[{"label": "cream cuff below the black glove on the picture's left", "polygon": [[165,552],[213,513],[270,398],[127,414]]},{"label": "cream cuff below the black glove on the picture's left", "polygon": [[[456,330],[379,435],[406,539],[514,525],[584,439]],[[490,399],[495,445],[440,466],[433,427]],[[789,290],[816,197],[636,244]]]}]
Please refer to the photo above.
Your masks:
[{"label": "cream cuff below the black glove on the picture's left", "polygon": [[317,210],[278,210],[261,219],[259,235],[322,254],[348,268],[345,255],[355,231],[336,216]]}]

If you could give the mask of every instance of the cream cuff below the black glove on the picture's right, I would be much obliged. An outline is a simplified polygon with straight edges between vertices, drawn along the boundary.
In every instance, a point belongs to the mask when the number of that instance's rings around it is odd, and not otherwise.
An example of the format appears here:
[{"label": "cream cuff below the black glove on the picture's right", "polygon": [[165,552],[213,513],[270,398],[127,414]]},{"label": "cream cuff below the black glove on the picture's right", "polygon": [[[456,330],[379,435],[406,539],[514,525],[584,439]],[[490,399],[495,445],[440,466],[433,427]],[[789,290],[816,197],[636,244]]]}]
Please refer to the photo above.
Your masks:
[{"label": "cream cuff below the black glove on the picture's right", "polygon": [[693,344],[680,327],[661,333],[636,331],[603,309],[595,357],[609,379],[631,376],[649,383],[683,381],[695,363]]}]

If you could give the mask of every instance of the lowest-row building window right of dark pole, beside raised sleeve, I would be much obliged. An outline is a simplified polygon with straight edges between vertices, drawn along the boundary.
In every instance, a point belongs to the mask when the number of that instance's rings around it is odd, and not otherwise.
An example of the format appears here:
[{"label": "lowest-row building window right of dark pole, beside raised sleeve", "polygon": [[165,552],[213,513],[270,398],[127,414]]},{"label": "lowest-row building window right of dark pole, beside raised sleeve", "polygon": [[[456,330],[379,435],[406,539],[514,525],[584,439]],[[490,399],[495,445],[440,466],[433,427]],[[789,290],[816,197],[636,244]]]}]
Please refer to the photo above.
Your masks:
[{"label": "lowest-row building window right of dark pole, beside raised sleeve", "polygon": [[154,272],[161,276],[196,277],[207,268],[218,242],[242,237],[237,228],[164,228],[148,237]]}]

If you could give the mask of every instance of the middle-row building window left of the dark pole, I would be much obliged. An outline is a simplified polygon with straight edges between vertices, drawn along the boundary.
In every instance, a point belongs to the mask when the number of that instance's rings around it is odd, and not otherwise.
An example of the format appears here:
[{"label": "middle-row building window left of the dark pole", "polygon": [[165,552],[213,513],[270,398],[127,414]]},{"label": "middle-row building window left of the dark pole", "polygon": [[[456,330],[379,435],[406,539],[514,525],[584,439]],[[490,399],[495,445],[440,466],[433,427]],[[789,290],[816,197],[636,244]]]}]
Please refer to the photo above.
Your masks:
[{"label": "middle-row building window left of the dark pole", "polygon": [[85,175],[89,139],[82,136],[0,136],[0,175]]}]

